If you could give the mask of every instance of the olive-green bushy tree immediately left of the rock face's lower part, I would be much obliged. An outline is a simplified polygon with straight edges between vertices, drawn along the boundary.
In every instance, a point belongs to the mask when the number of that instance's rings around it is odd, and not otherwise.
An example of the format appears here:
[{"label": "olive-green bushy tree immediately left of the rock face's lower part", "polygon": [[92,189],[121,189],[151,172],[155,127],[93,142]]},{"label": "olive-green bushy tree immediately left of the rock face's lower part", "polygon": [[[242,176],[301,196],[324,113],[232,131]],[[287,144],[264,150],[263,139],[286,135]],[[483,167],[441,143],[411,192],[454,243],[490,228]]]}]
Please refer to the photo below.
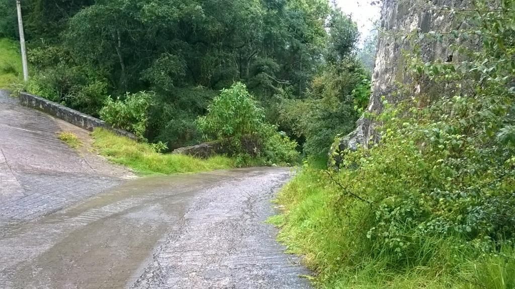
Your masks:
[{"label": "olive-green bushy tree immediately left of the rock face's lower part", "polygon": [[313,80],[306,99],[282,102],[281,124],[305,139],[306,155],[325,157],[337,134],[354,129],[360,113],[354,106],[368,103],[369,83],[365,70],[353,59],[328,64]]}]

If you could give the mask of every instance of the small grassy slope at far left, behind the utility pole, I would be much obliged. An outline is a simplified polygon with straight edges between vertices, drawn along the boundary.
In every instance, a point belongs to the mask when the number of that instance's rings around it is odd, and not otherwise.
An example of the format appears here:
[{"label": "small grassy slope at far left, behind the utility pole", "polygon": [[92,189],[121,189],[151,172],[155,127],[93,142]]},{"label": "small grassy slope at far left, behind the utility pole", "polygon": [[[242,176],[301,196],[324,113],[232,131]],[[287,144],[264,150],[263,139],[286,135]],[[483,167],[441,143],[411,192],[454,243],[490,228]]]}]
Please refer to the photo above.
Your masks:
[{"label": "small grassy slope at far left, behind the utility pole", "polygon": [[22,60],[16,42],[0,39],[0,88],[9,88],[22,81]]}]

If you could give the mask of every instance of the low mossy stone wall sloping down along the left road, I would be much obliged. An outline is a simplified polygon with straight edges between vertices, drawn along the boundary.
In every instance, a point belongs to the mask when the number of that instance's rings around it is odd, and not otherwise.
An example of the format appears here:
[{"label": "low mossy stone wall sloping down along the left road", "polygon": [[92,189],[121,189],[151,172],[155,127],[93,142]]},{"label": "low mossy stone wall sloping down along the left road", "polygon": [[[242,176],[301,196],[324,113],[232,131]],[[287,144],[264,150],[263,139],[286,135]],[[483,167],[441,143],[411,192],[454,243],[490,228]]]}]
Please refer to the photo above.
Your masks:
[{"label": "low mossy stone wall sloping down along the left road", "polygon": [[70,107],[66,107],[64,105],[44,99],[42,97],[22,92],[20,93],[19,99],[20,104],[24,106],[55,116],[64,121],[77,125],[77,127],[79,128],[83,128],[88,131],[93,131],[93,129],[95,128],[104,128],[118,135],[125,136],[130,139],[137,139],[134,134],[124,130],[115,129],[103,120],[94,118],[87,114],[83,114],[76,110],[72,110],[70,109]]}]

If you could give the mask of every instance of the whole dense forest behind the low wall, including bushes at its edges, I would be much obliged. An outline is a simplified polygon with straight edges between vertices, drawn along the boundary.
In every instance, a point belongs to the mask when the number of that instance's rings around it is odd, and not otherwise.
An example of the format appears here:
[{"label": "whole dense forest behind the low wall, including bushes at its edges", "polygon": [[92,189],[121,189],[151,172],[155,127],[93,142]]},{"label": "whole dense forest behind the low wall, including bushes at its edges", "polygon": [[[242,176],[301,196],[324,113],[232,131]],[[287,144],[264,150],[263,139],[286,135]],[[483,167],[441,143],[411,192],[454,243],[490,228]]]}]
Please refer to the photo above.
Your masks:
[{"label": "whole dense forest behind the low wall, including bushes at its edges", "polygon": [[[0,37],[16,39],[14,1],[0,11]],[[357,26],[327,0],[37,0],[23,14],[25,89],[169,150],[202,141],[195,120],[237,82],[315,157],[367,104]]]}]

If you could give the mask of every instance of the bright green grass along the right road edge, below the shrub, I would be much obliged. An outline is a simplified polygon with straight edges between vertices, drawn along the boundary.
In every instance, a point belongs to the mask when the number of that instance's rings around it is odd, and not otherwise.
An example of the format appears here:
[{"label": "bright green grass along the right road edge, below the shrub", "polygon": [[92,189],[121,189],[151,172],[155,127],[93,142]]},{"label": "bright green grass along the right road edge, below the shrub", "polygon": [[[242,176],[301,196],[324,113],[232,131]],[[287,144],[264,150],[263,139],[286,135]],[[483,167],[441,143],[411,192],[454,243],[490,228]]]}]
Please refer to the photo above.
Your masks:
[{"label": "bright green grass along the right road edge, below the shrub", "polygon": [[[388,252],[372,253],[373,241],[353,231],[363,215],[335,211],[338,190],[313,166],[302,169],[279,193],[283,213],[268,221],[280,227],[279,241],[303,257],[313,270],[317,288],[391,289],[513,289],[515,249],[512,244],[482,254],[459,238],[420,239],[409,263]],[[352,238],[354,237],[354,238]],[[364,241],[365,240],[365,241]]]}]

